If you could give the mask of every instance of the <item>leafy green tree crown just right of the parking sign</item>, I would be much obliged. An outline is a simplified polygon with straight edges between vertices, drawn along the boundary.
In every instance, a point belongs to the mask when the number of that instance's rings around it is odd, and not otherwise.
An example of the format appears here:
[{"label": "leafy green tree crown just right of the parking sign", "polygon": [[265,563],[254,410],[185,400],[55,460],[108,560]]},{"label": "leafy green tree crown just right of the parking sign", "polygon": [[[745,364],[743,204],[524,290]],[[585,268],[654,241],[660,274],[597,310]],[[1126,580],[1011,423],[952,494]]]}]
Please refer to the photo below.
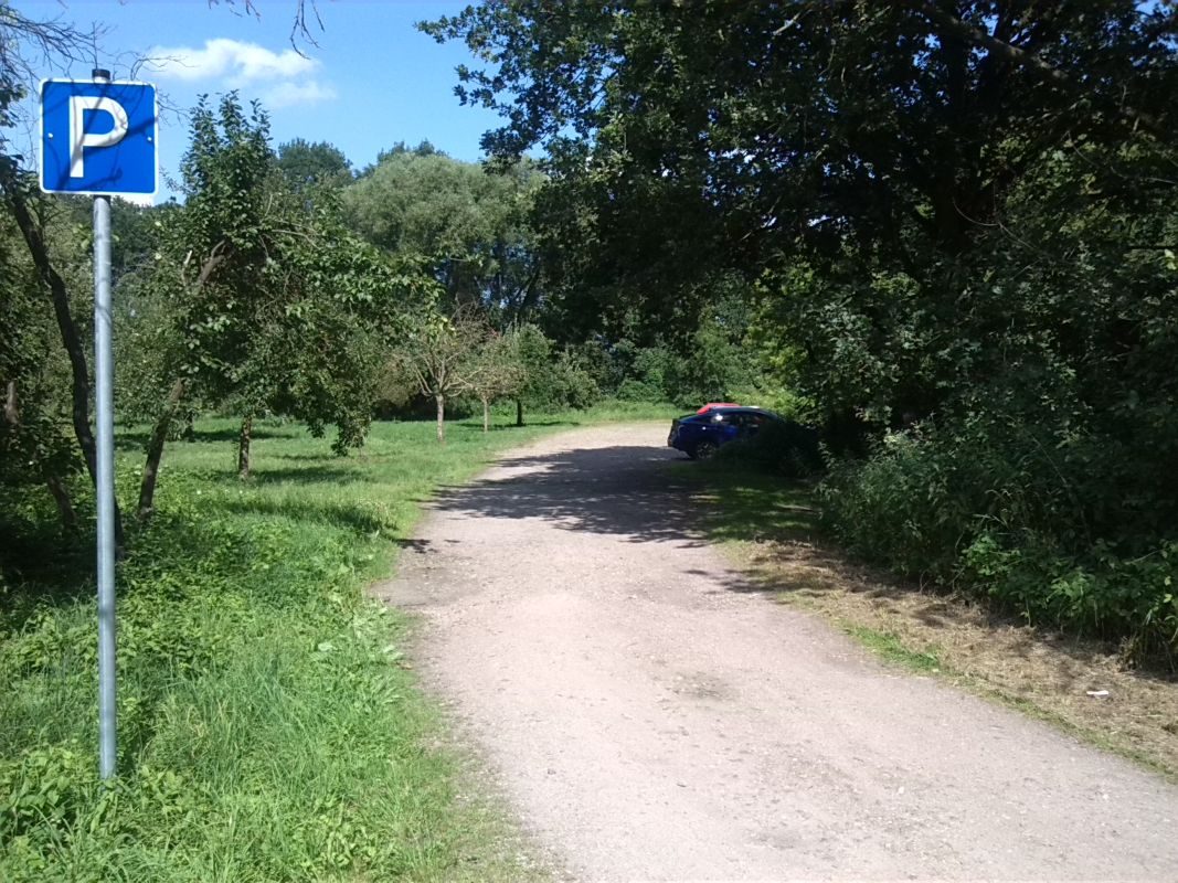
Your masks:
[{"label": "leafy green tree crown just right of the parking sign", "polygon": [[284,166],[265,114],[246,115],[232,94],[216,112],[201,102],[192,134],[187,200],[163,218],[163,254],[139,285],[144,308],[126,323],[144,343],[131,400],[155,401],[132,413],[154,419],[184,378],[190,405],[294,417],[316,436],[335,425],[338,452],[359,446],[386,341],[432,285],[412,259],[350,233],[327,181],[290,182],[313,178],[309,164],[338,172],[338,152],[294,142]]}]

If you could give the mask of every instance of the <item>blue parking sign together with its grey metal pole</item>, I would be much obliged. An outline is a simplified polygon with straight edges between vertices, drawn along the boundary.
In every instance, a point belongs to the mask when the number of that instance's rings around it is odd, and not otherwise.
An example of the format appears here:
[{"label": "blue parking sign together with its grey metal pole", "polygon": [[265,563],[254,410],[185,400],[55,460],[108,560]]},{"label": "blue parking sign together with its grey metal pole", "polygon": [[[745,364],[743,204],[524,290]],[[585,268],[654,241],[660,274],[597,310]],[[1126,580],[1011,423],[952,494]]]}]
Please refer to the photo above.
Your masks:
[{"label": "blue parking sign together with its grey metal pole", "polygon": [[41,84],[41,190],[94,194],[94,420],[98,503],[98,769],[114,776],[114,348],[111,321],[111,197],[155,192],[155,88],[93,81]]}]

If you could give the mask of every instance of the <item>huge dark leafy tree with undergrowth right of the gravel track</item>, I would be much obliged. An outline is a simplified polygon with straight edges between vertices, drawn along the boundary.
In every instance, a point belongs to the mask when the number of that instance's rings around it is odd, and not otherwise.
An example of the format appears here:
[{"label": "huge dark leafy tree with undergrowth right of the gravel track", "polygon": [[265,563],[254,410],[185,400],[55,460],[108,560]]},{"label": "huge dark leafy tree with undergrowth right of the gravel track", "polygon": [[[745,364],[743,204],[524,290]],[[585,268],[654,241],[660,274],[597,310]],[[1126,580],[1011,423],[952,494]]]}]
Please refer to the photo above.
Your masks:
[{"label": "huge dark leafy tree with undergrowth right of the gravel track", "polygon": [[[423,28],[489,59],[458,72],[503,114],[484,146],[548,151],[558,321],[694,353],[684,398],[792,390],[830,447],[872,447],[827,485],[848,543],[1144,652],[1174,645],[1176,24],[507,0]],[[713,324],[724,292],[744,336]],[[775,383],[733,380],[749,343]],[[634,364],[624,394],[666,381]]]}]

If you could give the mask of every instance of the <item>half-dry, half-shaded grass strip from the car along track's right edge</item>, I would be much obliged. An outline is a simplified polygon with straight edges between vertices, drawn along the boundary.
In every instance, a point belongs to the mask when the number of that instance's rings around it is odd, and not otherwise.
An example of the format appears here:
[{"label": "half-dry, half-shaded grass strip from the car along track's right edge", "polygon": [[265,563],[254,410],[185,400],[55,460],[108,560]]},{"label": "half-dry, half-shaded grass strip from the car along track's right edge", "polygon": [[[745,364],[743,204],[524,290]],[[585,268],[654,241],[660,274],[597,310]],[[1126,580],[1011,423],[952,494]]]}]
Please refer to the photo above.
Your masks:
[{"label": "half-dry, half-shaded grass strip from the car along track's right edge", "polygon": [[[827,619],[882,660],[946,679],[1178,781],[1178,683],[1116,648],[1035,630],[951,593],[849,563],[807,485],[732,464],[676,464],[704,527],[777,600]],[[1096,696],[1090,693],[1097,693]]]}]

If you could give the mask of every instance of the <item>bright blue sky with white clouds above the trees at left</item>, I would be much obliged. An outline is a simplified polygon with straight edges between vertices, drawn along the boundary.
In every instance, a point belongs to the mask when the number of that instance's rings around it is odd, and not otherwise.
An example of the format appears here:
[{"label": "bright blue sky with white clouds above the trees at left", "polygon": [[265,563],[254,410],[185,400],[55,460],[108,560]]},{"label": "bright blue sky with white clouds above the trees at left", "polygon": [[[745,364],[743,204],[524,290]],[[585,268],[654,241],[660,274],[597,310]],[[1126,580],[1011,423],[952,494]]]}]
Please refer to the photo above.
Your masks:
[{"label": "bright blue sky with white clouds above the trees at left", "polygon": [[[212,7],[205,0],[14,5],[26,15],[60,18],[86,31],[91,22],[105,25],[105,66],[125,78],[135,58],[155,59],[138,79],[155,82],[174,106],[187,108],[201,93],[237,88],[270,112],[274,146],[297,137],[331,141],[355,167],[375,161],[397,141],[423,139],[452,157],[475,160],[479,137],[498,120],[491,112],[461,106],[454,95],[455,66],[475,64],[465,46],[439,45],[413,28],[415,21],[454,14],[464,2],[319,0],[324,29],[311,22],[318,46],[299,44],[307,58],[291,49],[294,0],[257,0],[260,18],[244,14],[241,0]],[[90,66],[44,74],[88,79]],[[186,126],[174,114],[161,120],[164,175],[178,172]],[[161,185],[157,200],[167,195]]]}]

